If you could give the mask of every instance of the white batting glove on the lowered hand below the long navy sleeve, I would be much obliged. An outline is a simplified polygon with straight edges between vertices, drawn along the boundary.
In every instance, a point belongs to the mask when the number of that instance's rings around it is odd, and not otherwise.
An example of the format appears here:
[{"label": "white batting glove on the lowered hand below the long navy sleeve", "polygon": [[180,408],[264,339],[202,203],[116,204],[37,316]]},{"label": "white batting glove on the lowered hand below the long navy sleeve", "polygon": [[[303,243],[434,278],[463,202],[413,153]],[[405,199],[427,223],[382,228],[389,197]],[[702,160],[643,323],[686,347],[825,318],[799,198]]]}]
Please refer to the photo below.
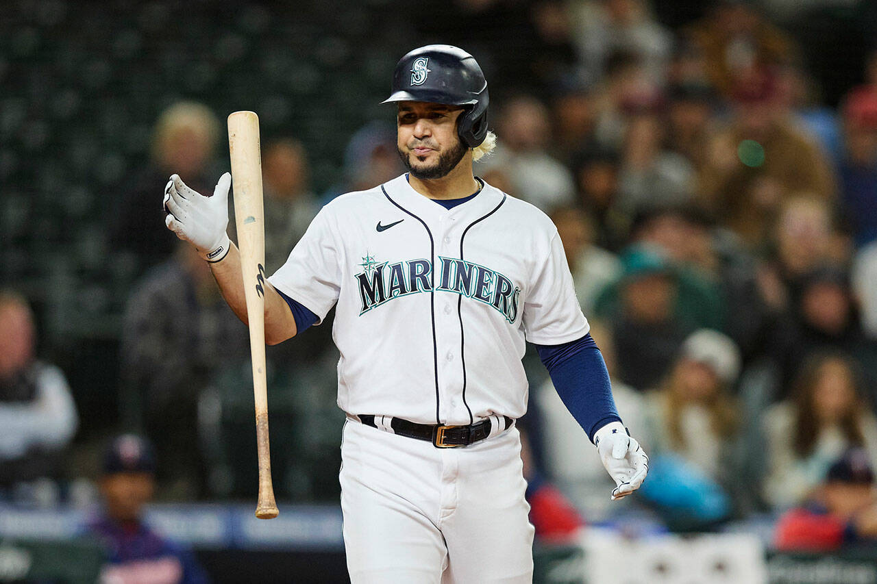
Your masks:
[{"label": "white batting glove on the lowered hand below the long navy sleeve", "polygon": [[621,499],[637,490],[649,472],[649,457],[642,446],[627,433],[624,424],[611,422],[594,435],[594,445],[603,466],[615,481],[612,501]]}]

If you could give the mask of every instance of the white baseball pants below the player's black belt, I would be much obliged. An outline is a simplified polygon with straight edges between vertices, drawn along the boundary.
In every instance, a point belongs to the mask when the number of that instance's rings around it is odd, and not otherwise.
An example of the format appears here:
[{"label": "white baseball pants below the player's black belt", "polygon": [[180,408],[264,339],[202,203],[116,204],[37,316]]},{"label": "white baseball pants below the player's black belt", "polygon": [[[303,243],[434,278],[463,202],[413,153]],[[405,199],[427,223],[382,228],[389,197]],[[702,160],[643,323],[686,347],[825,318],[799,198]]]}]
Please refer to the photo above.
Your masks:
[{"label": "white baseball pants below the player's black belt", "polygon": [[533,527],[517,428],[436,448],[348,420],[341,459],[353,584],[531,582]]}]

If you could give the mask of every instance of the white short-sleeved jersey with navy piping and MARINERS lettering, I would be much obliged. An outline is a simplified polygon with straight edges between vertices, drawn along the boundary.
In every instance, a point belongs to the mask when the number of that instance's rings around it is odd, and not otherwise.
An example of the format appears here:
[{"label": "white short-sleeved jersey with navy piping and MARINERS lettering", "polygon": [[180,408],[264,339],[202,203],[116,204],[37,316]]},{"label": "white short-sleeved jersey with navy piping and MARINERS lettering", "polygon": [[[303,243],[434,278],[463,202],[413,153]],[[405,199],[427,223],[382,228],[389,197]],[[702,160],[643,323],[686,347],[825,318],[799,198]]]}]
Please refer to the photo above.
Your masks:
[{"label": "white short-sleeved jersey with navy piping and MARINERS lettering", "polygon": [[551,220],[488,184],[450,210],[404,175],[339,196],[268,280],[321,320],[337,303],[338,402],[350,414],[521,417],[525,340],[588,332]]}]

